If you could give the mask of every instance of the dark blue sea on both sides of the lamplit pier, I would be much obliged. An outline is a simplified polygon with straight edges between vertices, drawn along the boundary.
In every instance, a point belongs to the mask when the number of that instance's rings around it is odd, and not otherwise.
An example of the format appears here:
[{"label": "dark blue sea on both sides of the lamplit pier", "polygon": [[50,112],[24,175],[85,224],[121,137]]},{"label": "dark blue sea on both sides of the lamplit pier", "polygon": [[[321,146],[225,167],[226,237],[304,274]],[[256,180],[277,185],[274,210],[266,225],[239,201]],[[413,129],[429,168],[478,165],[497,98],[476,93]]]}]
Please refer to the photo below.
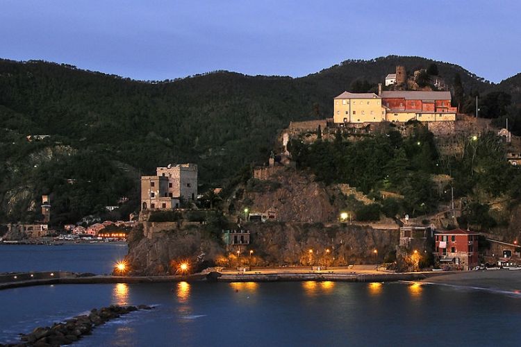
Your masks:
[{"label": "dark blue sea on both sides of the lamplit pier", "polygon": [[[62,264],[62,270],[104,273],[110,272],[104,262],[121,255],[121,246],[117,245],[74,246],[0,246],[1,269],[33,266],[51,270]],[[19,264],[26,261],[35,264]],[[78,262],[83,262],[84,267]],[[132,312],[101,325],[74,346],[520,344],[518,294],[420,282],[328,281],[117,283],[6,289],[0,291],[0,342],[15,341],[20,332],[110,304],[145,304],[154,309]]]}]

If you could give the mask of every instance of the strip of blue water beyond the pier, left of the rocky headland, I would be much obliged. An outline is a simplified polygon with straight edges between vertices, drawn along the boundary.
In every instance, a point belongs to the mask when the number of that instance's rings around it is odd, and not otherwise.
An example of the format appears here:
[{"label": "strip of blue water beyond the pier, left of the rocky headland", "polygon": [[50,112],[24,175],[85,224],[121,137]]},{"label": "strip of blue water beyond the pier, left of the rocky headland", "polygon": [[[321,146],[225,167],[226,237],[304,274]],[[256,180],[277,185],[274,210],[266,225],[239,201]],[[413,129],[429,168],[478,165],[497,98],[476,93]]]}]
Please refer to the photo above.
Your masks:
[{"label": "strip of blue water beyond the pier, left of the rocky headland", "polygon": [[110,273],[124,258],[124,242],[63,246],[0,245],[0,273],[10,271],[74,271]]}]

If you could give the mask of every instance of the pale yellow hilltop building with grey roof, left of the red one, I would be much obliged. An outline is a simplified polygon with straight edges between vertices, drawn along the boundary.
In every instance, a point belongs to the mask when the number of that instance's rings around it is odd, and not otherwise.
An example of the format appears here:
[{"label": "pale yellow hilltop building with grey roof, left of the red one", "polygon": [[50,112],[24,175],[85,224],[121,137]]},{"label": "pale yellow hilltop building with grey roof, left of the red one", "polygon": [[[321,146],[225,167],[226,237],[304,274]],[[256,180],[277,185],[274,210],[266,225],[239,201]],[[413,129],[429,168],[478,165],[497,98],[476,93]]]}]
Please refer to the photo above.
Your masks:
[{"label": "pale yellow hilltop building with grey roof, left of the red one", "polygon": [[386,109],[377,94],[343,92],[335,98],[333,119],[336,124],[385,121]]}]

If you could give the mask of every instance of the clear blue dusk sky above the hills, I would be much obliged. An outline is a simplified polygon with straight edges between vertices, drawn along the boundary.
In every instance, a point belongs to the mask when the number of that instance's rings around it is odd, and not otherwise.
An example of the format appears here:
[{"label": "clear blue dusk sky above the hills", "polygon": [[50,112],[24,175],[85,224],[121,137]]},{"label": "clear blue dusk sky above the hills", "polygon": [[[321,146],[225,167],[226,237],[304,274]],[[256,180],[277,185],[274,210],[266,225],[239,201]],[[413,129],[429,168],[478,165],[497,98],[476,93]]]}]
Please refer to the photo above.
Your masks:
[{"label": "clear blue dusk sky above the hills", "polygon": [[0,0],[0,58],[162,81],[299,77],[392,54],[498,83],[521,72],[520,12],[519,0]]}]

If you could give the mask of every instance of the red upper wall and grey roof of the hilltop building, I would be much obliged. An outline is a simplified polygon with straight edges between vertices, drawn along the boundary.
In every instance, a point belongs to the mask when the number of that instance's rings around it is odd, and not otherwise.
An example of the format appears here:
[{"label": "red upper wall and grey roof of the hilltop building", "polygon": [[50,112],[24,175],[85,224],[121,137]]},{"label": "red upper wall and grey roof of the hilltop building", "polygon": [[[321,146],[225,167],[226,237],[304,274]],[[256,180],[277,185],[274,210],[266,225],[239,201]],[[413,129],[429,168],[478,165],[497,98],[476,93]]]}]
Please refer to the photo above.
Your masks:
[{"label": "red upper wall and grey roof of the hilltop building", "polygon": [[382,105],[392,112],[456,113],[450,92],[387,91],[380,94]]}]

